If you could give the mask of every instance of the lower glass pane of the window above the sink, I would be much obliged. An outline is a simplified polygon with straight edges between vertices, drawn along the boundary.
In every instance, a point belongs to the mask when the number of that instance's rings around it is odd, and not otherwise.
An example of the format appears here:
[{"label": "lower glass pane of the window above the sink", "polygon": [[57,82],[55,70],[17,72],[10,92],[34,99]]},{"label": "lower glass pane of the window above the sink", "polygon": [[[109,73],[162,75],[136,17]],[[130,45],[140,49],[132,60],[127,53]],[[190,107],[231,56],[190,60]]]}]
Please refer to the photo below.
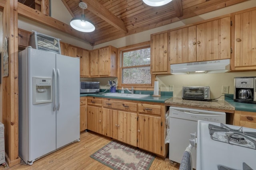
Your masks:
[{"label": "lower glass pane of the window above the sink", "polygon": [[151,84],[150,66],[124,68],[123,84]]}]

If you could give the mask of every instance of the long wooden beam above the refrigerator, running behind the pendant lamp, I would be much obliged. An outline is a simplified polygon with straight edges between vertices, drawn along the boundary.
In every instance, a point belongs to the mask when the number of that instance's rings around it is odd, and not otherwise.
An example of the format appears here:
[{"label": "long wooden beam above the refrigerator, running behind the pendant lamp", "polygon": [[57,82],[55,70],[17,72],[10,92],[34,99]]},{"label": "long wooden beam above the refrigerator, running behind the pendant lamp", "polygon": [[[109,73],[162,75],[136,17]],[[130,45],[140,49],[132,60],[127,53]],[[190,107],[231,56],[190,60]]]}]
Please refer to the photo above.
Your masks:
[{"label": "long wooden beam above the refrigerator, running behind the pendant lamp", "polygon": [[18,14],[20,16],[29,18],[30,20],[42,23],[44,25],[47,25],[48,27],[52,27],[58,31],[62,31],[79,39],[82,39],[86,42],[94,44],[94,41],[91,38],[90,34],[76,31],[70,25],[62,21],[56,20],[50,16],[47,16],[38,10],[34,10],[24,4],[21,4],[20,2],[18,2]]}]

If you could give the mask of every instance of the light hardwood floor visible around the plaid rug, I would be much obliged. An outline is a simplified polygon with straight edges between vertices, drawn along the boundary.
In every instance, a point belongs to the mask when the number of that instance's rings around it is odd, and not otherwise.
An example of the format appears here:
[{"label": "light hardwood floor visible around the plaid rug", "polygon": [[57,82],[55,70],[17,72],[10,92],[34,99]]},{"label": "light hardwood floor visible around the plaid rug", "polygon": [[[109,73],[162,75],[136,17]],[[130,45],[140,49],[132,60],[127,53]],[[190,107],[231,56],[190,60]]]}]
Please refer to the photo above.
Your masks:
[{"label": "light hardwood floor visible around the plaid rug", "polygon": [[[112,170],[108,166],[90,158],[90,155],[104,147],[112,139],[92,132],[80,134],[80,142],[73,143],[48,156],[36,160],[29,166],[23,161],[11,168],[0,170]],[[168,158],[154,159],[150,170],[178,170],[179,164],[171,164]]]}]

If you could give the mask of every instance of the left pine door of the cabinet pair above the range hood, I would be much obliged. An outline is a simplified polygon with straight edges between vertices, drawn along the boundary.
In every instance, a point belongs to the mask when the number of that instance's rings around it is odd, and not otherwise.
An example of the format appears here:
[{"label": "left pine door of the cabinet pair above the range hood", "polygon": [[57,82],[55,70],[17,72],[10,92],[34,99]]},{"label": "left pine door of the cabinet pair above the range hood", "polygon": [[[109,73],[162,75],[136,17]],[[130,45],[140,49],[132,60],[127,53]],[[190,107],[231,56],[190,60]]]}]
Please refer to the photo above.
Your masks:
[{"label": "left pine door of the cabinet pair above the range hood", "polygon": [[196,26],[170,31],[170,64],[196,62]]}]

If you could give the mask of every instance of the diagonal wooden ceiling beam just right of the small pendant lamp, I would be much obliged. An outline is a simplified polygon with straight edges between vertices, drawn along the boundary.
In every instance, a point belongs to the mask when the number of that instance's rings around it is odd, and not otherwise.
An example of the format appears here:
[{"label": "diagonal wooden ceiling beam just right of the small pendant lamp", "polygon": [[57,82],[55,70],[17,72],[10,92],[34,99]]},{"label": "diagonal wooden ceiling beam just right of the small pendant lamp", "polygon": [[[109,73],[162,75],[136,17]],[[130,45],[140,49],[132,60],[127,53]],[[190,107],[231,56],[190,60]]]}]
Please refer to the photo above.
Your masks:
[{"label": "diagonal wooden ceiling beam just right of the small pendant lamp", "polygon": [[113,27],[119,29],[123,33],[127,33],[125,23],[115,16],[112,12],[106,9],[102,4],[96,0],[83,0],[87,4],[87,10],[94,13],[96,16],[102,18],[104,21],[108,22]]}]

